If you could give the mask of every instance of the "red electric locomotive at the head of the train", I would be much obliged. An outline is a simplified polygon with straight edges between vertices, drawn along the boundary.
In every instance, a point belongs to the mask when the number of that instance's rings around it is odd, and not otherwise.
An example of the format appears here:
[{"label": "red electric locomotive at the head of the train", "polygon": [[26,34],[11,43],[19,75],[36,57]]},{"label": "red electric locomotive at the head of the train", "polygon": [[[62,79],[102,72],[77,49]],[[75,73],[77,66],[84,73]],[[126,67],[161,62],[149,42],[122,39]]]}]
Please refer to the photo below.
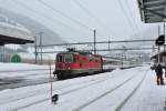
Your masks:
[{"label": "red electric locomotive at the head of the train", "polygon": [[91,74],[103,70],[101,56],[89,52],[69,51],[56,54],[55,71],[58,79]]}]

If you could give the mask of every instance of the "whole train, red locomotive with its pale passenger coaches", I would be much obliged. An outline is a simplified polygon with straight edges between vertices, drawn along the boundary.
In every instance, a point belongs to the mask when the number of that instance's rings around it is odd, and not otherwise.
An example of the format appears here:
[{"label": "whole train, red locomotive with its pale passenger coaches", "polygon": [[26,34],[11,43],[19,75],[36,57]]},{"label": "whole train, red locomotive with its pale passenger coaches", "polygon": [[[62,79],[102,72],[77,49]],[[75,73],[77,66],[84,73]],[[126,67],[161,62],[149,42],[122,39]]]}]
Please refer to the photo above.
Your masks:
[{"label": "whole train, red locomotive with its pale passenger coaches", "polygon": [[117,58],[93,54],[86,51],[68,51],[56,53],[54,77],[59,80],[80,75],[90,75],[112,71],[116,68],[138,67],[136,62]]}]

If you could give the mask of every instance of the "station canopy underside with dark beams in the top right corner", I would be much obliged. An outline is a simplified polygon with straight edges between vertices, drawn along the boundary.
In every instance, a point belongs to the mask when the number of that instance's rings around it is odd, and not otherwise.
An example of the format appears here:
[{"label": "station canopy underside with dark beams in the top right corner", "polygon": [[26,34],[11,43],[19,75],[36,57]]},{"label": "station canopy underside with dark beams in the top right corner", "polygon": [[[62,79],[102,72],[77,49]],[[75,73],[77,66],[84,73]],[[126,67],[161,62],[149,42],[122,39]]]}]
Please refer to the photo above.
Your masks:
[{"label": "station canopy underside with dark beams in the top right corner", "polygon": [[137,0],[145,23],[166,21],[166,0]]}]

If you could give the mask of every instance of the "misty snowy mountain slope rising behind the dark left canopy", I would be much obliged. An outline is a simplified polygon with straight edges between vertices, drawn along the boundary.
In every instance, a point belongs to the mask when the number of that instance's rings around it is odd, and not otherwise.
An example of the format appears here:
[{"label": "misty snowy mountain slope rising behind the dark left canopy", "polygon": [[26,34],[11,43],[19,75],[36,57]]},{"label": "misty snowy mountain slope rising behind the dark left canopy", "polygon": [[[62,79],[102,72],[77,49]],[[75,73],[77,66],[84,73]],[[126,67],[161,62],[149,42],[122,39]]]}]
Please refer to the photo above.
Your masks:
[{"label": "misty snowy mountain slope rising behind the dark left canopy", "polygon": [[[37,36],[37,44],[40,44],[39,43],[39,41],[40,41],[39,33],[40,32],[43,32],[42,44],[53,44],[53,43],[66,42],[63,40],[63,38],[60,34],[52,31],[52,29],[49,29],[48,27],[43,26],[38,20],[29,18],[29,16],[15,13],[13,11],[9,11],[3,8],[0,8],[0,14],[3,14],[2,18],[0,16],[0,19],[2,19],[0,21],[6,21],[7,23],[9,23],[9,21],[10,21],[10,24],[14,24],[14,27],[17,27],[17,29],[19,29],[19,31],[21,30],[27,33],[29,33],[29,31],[30,31],[32,33],[32,37]],[[30,33],[30,36],[31,36],[31,33]],[[21,38],[21,37],[19,37],[19,38]],[[22,38],[25,38],[25,37],[22,37]]]}]

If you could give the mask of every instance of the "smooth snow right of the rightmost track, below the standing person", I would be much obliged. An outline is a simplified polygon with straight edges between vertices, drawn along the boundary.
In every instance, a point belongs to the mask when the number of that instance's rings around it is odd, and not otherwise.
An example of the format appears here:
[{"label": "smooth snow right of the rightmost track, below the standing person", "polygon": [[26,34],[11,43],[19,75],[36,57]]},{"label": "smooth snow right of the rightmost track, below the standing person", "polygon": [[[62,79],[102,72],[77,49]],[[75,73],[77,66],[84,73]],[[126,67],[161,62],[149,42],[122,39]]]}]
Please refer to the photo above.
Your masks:
[{"label": "smooth snow right of the rightmost track, below the standing person", "polygon": [[166,87],[156,85],[155,72],[148,71],[145,81],[122,111],[165,111]]}]

